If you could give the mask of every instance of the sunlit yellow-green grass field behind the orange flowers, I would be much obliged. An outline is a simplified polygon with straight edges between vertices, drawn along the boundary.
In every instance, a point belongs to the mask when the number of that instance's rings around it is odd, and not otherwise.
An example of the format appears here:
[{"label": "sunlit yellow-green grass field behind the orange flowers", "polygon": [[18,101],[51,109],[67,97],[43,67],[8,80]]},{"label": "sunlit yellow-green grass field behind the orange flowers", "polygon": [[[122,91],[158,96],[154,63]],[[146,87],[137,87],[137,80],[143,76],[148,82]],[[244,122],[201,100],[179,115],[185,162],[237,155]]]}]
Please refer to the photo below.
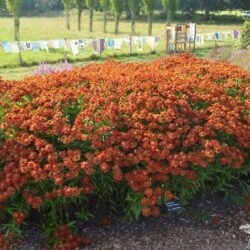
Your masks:
[{"label": "sunlit yellow-green grass field behind the orange flowers", "polygon": [[[227,13],[228,14],[228,13]],[[235,15],[232,13],[232,15]],[[221,16],[221,15],[220,15]],[[156,18],[157,19],[157,18]],[[108,22],[108,33],[102,32],[102,13],[96,12],[94,17],[94,31],[88,32],[88,13],[85,11],[82,18],[82,31],[77,31],[77,13],[75,10],[71,12],[71,30],[66,29],[65,17],[61,15],[52,17],[21,17],[21,40],[22,41],[36,41],[36,40],[50,40],[50,39],[88,39],[110,37],[115,38],[113,34],[114,21],[112,16]],[[236,19],[237,20],[237,19]],[[179,20],[181,21],[181,20]],[[240,29],[242,23],[237,20],[234,22],[223,22],[221,20],[197,24],[197,33],[205,34],[215,31],[232,31],[233,29]],[[13,41],[13,19],[7,17],[0,18],[0,41]],[[146,19],[139,20],[136,24],[136,35],[147,35],[147,21]],[[130,33],[130,21],[122,18],[120,22],[120,34],[117,37],[126,37]],[[35,66],[41,62],[58,63],[67,58],[71,63],[82,65],[90,61],[106,58],[115,58],[118,60],[150,60],[156,57],[165,56],[165,21],[155,20],[153,25],[153,35],[161,36],[161,41],[156,48],[154,54],[150,54],[150,49],[145,47],[142,52],[138,52],[135,48],[134,54],[129,55],[129,49],[126,45],[121,50],[106,50],[101,58],[93,57],[93,49],[87,49],[83,54],[73,56],[71,53],[65,53],[63,50],[54,50],[47,52],[23,52],[22,57],[26,67],[20,68],[18,65],[18,57],[16,54],[4,53],[0,49],[0,75],[5,79],[21,78],[26,74],[32,72]],[[237,42],[233,44],[231,39],[219,42],[219,45],[237,46]],[[209,53],[209,50],[215,46],[214,42],[206,42],[205,46],[197,48],[196,54],[204,56]]]}]

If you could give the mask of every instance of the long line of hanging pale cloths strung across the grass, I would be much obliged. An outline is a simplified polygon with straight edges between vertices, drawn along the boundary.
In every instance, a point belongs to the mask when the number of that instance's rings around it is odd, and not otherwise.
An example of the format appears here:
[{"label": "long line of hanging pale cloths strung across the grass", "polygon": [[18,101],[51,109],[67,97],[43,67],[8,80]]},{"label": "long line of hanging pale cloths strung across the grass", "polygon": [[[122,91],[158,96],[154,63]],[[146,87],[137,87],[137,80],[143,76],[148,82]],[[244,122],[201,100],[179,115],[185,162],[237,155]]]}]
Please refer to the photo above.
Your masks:
[{"label": "long line of hanging pale cloths strung across the grass", "polygon": [[[240,32],[237,30],[226,32],[209,32],[205,34],[196,34],[195,41],[197,45],[203,46],[206,41],[222,41],[231,38],[233,40],[240,38]],[[73,55],[84,53],[86,48],[93,49],[94,54],[101,55],[103,51],[109,49],[120,50],[125,44],[130,52],[136,49],[142,51],[145,46],[151,51],[155,50],[160,40],[165,36],[128,36],[123,38],[97,38],[97,39],[53,39],[40,41],[21,41],[21,42],[0,42],[0,50],[5,53],[19,53],[23,51],[46,51],[50,49],[63,49],[65,52],[71,52]],[[188,38],[187,38],[188,39]]]}]

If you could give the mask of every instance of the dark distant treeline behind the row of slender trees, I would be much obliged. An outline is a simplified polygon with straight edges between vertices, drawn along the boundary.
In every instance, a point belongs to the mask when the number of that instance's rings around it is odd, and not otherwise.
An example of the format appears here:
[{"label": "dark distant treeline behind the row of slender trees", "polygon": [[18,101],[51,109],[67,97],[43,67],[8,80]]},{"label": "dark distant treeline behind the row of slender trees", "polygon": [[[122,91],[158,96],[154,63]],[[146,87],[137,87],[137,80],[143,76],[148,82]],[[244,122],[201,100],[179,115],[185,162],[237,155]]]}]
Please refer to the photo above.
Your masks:
[{"label": "dark distant treeline behind the row of slender trees", "polygon": [[[127,13],[129,18],[129,0],[123,0],[124,11]],[[43,14],[50,11],[62,11],[64,9],[62,0],[23,0],[22,1],[22,15],[37,15]],[[73,5],[74,2],[72,1]],[[84,2],[84,0],[83,0]],[[138,2],[143,2],[138,1]],[[155,10],[164,11],[162,0],[154,1]],[[193,14],[197,10],[204,11],[205,18],[209,18],[210,11],[222,11],[225,9],[250,9],[250,0],[178,0],[178,10],[185,14]],[[7,13],[5,0],[0,0],[1,13]],[[143,6],[141,12],[143,13]],[[74,6],[73,6],[74,7]],[[87,9],[86,4],[83,8]],[[95,0],[95,10],[101,10],[100,1]]]}]

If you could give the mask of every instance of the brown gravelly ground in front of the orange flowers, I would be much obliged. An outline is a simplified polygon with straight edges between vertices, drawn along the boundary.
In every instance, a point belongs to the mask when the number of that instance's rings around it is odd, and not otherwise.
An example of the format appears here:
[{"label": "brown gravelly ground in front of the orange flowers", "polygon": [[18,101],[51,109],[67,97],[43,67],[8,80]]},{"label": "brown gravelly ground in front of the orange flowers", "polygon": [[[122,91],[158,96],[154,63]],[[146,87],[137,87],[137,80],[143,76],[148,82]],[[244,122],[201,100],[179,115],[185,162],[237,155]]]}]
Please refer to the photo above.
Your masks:
[{"label": "brown gravelly ground in front of the orange flowers", "polygon": [[[110,226],[85,225],[84,235],[93,238],[90,249],[124,250],[244,250],[248,236],[239,226],[250,223],[244,211],[229,207],[227,203],[199,201],[192,204],[184,214],[168,213],[159,218],[141,219],[137,222],[122,222],[117,218]],[[220,218],[219,225],[211,224],[211,216]],[[34,226],[25,229],[23,243],[13,250],[39,250],[44,238]]]}]

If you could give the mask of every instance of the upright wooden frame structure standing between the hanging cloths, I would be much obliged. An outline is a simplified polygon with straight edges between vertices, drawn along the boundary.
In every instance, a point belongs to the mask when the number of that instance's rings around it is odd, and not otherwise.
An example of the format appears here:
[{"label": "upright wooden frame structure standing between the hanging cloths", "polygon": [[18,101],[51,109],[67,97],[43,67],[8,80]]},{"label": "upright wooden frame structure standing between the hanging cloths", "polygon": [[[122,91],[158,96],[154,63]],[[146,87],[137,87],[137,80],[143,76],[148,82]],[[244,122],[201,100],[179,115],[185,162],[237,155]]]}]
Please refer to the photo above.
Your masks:
[{"label": "upright wooden frame structure standing between the hanging cloths", "polygon": [[166,26],[166,52],[194,52],[196,24],[174,24]]}]

